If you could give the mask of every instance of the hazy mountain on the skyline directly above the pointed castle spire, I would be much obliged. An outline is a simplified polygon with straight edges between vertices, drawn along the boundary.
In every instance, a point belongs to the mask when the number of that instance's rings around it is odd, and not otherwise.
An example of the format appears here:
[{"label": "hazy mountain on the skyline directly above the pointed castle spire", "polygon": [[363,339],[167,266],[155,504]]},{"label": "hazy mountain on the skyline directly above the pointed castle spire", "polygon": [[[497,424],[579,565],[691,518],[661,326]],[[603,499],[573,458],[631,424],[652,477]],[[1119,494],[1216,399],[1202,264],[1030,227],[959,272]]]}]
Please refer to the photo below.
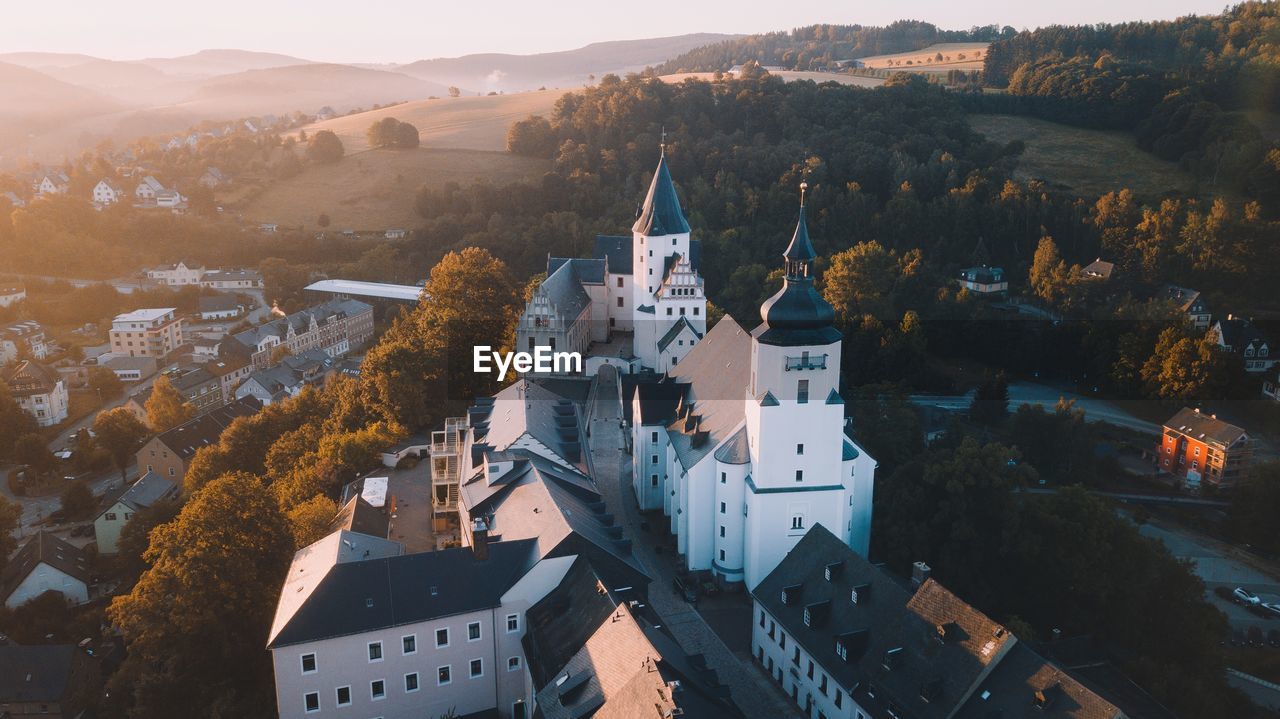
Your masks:
[{"label": "hazy mountain on the skyline directly above the pointed castle spire", "polygon": [[577,50],[507,55],[488,52],[462,58],[419,60],[396,68],[397,72],[440,84],[484,91],[520,91],[547,87],[575,87],[588,75],[627,73],[658,65],[682,52],[739,36],[718,33],[681,35],[649,40],[593,42]]}]

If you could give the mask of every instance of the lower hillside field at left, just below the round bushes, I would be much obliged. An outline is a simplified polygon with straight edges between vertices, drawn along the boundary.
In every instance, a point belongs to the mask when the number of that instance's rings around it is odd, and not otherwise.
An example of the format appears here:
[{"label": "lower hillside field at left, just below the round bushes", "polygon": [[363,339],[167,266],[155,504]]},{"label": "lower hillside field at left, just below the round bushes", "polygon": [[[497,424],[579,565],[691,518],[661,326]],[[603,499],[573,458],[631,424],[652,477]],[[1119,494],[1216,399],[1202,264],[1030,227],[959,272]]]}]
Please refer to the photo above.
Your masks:
[{"label": "lower hillside field at left, just below the round bushes", "polygon": [[366,150],[333,165],[308,166],[302,174],[270,184],[241,211],[255,223],[316,228],[321,212],[330,230],[381,230],[416,226],[413,196],[421,186],[488,179],[506,184],[541,177],[549,162],[484,150]]}]

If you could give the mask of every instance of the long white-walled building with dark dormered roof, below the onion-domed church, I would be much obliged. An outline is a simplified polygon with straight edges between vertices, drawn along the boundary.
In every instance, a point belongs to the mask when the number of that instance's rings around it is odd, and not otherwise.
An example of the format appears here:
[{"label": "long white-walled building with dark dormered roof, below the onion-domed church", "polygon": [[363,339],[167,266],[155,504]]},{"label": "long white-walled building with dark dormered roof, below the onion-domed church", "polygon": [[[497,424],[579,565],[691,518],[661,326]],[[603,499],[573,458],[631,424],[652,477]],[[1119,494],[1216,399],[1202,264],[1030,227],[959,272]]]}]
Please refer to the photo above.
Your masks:
[{"label": "long white-walled building with dark dormered roof, below the onion-domed church", "polygon": [[751,591],[751,654],[810,718],[1123,716],[928,574],[908,589],[814,526]]}]

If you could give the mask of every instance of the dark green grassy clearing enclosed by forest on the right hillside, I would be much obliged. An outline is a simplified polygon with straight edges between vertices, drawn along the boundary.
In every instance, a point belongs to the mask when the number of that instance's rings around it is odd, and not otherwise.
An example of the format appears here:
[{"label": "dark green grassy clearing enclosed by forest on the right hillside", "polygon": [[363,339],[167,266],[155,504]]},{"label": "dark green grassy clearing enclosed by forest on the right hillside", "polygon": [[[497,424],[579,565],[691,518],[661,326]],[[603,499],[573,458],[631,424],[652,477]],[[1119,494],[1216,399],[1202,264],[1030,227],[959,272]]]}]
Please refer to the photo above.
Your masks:
[{"label": "dark green grassy clearing enclosed by forest on the right hillside", "polygon": [[993,142],[1027,143],[1014,173],[1019,179],[1042,179],[1084,197],[1124,187],[1143,198],[1194,192],[1190,175],[1139,148],[1124,132],[1082,129],[1015,115],[969,115],[969,124]]}]

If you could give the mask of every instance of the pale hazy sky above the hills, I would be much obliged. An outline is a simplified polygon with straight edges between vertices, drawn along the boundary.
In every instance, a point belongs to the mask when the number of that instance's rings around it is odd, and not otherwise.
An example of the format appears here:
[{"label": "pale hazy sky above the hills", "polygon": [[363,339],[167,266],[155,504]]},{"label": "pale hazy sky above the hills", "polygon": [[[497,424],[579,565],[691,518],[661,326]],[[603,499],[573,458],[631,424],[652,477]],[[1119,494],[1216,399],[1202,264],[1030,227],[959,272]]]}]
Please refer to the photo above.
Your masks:
[{"label": "pale hazy sky above the hills", "polygon": [[813,23],[922,19],[947,29],[1167,19],[1224,0],[9,0],[0,52],[138,59],[238,47],[311,60],[406,63],[468,52],[544,52],[603,40],[753,33]]}]

